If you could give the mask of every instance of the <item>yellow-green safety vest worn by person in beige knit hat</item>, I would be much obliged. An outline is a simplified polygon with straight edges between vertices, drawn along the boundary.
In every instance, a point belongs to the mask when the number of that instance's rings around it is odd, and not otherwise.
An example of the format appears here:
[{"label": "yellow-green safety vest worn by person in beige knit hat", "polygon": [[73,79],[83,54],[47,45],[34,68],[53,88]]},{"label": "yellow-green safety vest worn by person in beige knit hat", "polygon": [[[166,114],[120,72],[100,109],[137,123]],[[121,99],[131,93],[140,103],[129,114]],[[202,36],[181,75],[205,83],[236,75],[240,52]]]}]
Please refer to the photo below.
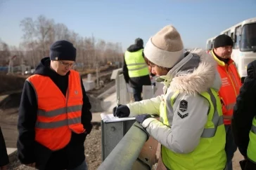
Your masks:
[{"label": "yellow-green safety vest worn by person in beige knit hat", "polygon": [[[160,120],[171,128],[172,114],[174,113],[174,103],[179,92],[175,92],[172,97],[167,97],[170,102],[163,102],[160,107]],[[162,146],[162,161],[168,169],[172,170],[223,170],[226,164],[225,129],[222,117],[222,107],[215,90],[208,90],[200,94],[210,104],[207,122],[201,135],[200,143],[195,150],[187,154],[174,153],[165,146]],[[165,110],[166,108],[166,110]],[[188,139],[189,140],[189,139]],[[184,164],[186,162],[186,164]]]}]

